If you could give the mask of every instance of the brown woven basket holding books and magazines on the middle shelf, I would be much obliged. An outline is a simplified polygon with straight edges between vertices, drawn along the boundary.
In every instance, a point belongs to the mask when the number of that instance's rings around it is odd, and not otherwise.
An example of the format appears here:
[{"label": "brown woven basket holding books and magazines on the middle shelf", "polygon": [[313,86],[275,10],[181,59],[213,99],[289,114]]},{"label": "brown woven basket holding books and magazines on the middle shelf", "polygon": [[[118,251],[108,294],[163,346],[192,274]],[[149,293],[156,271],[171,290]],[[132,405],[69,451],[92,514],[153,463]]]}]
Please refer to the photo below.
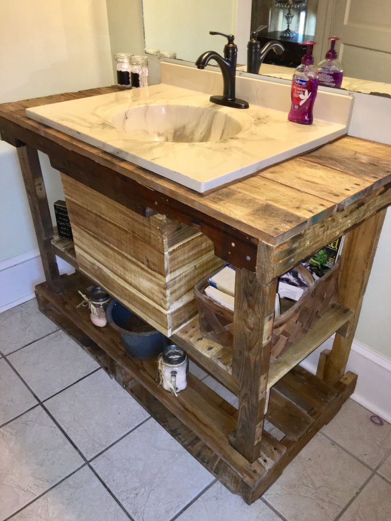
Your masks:
[{"label": "brown woven basket holding books and magazines on the middle shelf", "polygon": [[[306,281],[307,290],[298,302],[274,320],[271,362],[300,340],[336,301],[339,268],[338,259],[323,277],[315,281],[310,271],[302,264],[295,267]],[[219,269],[214,274],[218,271]],[[211,275],[202,279],[194,287],[200,315],[200,331],[203,336],[232,349],[234,312],[205,295],[204,290],[209,285],[207,279],[210,277]]]}]

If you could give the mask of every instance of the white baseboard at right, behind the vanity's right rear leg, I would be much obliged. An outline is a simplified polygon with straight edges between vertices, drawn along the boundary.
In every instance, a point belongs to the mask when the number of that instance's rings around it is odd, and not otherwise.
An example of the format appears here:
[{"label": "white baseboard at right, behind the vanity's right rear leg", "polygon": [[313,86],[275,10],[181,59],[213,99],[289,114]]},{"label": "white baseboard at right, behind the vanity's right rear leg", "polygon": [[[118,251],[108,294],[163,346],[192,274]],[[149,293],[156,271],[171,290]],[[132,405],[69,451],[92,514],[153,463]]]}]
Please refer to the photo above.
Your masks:
[{"label": "white baseboard at right, behind the vanity's right rear leg", "polygon": [[[300,365],[315,374],[321,351],[331,349],[332,345],[333,338],[329,338]],[[391,361],[355,341],[347,370],[358,375],[351,398],[391,423]]]}]

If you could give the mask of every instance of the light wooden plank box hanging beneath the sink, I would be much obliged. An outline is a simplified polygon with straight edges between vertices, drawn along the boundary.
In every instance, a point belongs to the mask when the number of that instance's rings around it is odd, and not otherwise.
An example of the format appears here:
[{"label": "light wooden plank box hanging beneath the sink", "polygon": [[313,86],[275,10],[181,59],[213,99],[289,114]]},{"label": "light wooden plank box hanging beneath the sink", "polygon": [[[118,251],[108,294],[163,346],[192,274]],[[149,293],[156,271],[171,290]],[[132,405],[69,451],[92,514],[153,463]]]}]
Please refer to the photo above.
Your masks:
[{"label": "light wooden plank box hanging beneath the sink", "polygon": [[193,288],[223,264],[210,239],[164,215],[143,217],[62,174],[79,269],[171,336],[197,314]]}]

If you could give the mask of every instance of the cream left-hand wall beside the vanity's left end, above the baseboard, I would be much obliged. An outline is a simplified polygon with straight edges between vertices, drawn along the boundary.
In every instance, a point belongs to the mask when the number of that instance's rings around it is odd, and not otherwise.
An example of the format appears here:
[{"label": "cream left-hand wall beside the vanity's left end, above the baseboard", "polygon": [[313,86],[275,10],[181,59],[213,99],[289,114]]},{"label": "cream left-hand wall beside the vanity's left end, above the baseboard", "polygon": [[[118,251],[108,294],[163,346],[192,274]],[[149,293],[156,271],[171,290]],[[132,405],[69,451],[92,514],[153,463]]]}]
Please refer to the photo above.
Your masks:
[{"label": "cream left-hand wall beside the vanity's left end, above the baseboard", "polygon": [[[0,0],[0,103],[113,83],[105,0]],[[41,155],[50,201],[63,197]],[[0,262],[34,250],[15,148],[0,142]]]}]

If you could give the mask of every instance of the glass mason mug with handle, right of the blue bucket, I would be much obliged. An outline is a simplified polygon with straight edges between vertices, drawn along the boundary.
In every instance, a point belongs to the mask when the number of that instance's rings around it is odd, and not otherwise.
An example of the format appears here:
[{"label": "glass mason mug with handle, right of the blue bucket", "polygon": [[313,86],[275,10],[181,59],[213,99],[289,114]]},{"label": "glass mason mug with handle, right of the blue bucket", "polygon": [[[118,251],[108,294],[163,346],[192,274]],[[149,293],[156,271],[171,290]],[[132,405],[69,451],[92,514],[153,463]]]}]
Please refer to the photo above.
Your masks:
[{"label": "glass mason mug with handle, right of the blue bucket", "polygon": [[184,350],[175,344],[167,345],[158,357],[157,367],[163,389],[175,396],[186,389],[189,359]]}]

